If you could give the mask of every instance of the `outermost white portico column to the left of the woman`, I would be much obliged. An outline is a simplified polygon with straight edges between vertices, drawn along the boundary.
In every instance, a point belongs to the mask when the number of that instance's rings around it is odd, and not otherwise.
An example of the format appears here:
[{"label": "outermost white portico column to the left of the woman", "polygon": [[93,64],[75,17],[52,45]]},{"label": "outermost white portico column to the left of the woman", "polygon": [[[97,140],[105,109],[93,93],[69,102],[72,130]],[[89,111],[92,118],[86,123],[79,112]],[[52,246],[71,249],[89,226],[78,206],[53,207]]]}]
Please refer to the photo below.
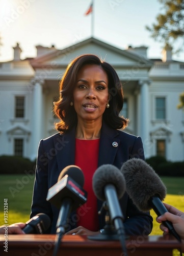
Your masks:
[{"label": "outermost white portico column to the left of the woman", "polygon": [[42,80],[34,80],[33,83],[33,115],[32,115],[32,149],[31,159],[37,156],[38,143],[42,138],[43,130],[43,92]]}]

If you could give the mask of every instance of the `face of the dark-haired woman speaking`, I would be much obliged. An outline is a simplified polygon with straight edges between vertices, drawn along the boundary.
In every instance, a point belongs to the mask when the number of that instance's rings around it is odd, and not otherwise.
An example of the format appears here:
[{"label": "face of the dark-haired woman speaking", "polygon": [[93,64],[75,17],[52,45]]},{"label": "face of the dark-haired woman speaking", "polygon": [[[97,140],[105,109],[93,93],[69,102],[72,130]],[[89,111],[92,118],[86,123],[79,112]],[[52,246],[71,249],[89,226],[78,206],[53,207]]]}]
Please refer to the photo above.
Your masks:
[{"label": "face of the dark-haired woman speaking", "polygon": [[78,120],[102,120],[109,101],[108,76],[98,65],[85,65],[78,72],[73,105]]}]

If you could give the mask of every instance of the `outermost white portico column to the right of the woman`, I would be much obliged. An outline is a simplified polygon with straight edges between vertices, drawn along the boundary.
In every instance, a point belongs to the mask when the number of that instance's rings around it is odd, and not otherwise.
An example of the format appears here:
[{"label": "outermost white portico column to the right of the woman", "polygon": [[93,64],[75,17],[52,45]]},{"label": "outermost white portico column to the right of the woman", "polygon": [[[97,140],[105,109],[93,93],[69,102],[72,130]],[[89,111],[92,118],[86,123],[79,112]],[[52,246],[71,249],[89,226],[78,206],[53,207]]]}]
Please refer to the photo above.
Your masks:
[{"label": "outermost white portico column to the right of the woman", "polygon": [[149,121],[150,121],[150,105],[149,105],[149,83],[148,80],[139,81],[141,86],[140,97],[140,131],[144,147],[145,158],[149,157],[150,138],[149,138]]}]

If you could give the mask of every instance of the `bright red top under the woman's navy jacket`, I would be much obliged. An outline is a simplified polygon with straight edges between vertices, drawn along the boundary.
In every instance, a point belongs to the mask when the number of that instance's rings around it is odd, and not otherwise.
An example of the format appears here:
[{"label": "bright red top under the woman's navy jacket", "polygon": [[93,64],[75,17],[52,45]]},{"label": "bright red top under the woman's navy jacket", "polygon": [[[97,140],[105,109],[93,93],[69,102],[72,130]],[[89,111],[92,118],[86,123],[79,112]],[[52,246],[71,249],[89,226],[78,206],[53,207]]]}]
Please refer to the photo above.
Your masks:
[{"label": "bright red top under the woman's navy jacket", "polygon": [[83,226],[91,231],[99,230],[97,199],[92,188],[92,178],[98,167],[99,139],[75,139],[75,165],[84,174],[84,189],[88,192],[87,202],[76,211],[77,226]]}]

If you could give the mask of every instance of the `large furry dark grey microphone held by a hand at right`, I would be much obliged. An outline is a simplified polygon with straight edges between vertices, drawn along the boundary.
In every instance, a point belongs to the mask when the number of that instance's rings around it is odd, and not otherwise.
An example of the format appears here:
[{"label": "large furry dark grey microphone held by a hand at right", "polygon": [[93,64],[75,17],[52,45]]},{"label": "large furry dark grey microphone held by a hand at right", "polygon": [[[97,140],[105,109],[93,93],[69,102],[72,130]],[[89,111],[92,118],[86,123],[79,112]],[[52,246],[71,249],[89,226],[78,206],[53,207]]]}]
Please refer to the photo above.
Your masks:
[{"label": "large furry dark grey microphone held by a hand at right", "polygon": [[[120,169],[126,181],[126,191],[141,211],[153,209],[157,216],[167,212],[162,203],[166,197],[166,186],[152,167],[142,159],[129,159]],[[180,237],[170,221],[164,221],[169,232],[179,241]]]}]

